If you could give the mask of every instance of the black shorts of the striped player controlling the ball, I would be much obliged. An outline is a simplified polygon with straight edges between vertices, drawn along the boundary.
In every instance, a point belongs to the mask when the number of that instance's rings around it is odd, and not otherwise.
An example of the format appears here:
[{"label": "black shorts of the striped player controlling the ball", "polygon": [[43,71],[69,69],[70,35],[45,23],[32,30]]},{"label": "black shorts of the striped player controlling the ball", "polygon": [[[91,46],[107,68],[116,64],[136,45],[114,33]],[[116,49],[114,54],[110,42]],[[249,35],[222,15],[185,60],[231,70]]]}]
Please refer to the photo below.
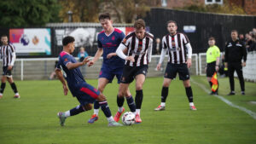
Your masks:
[{"label": "black shorts of the striped player controlling the ball", "polygon": [[145,77],[148,73],[148,65],[143,66],[126,66],[124,67],[123,76],[121,78],[121,83],[130,84],[137,75],[143,74]]}]

